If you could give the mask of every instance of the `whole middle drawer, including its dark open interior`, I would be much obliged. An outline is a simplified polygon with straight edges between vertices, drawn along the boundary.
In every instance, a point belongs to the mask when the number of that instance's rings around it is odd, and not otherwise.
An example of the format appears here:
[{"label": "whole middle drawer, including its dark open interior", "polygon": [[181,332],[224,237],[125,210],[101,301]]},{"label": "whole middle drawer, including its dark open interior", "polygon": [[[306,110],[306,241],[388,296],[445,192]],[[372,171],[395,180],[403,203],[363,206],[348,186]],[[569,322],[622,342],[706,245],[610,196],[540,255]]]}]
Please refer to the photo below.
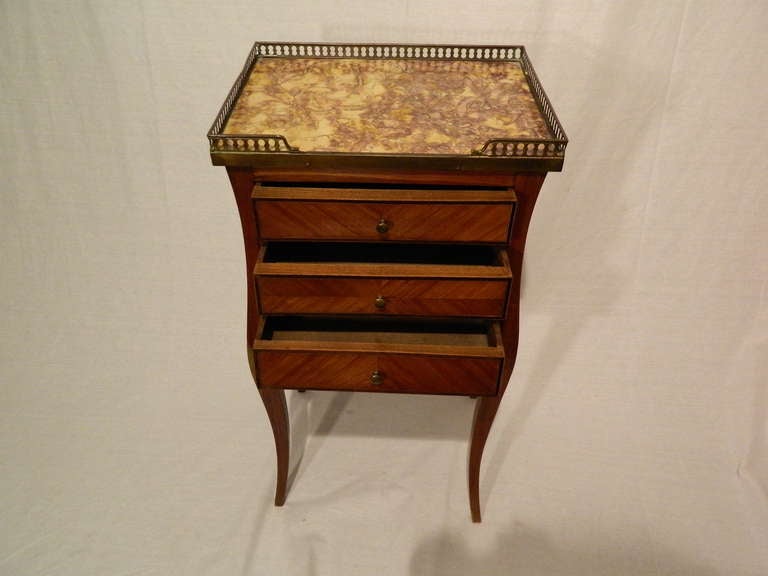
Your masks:
[{"label": "whole middle drawer, including its dark open interior", "polygon": [[255,266],[262,314],[503,318],[512,273],[491,246],[280,242]]}]

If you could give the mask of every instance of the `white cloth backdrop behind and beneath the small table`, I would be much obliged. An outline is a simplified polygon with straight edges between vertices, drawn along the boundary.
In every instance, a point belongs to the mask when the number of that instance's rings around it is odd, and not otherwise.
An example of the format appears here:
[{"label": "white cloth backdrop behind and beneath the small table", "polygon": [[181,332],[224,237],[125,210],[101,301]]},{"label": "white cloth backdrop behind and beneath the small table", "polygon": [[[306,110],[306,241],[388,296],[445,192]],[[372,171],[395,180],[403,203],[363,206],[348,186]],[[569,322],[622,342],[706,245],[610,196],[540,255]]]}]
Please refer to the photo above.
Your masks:
[{"label": "white cloth backdrop behind and beneath the small table", "polygon": [[[0,2],[0,573],[768,574],[768,3]],[[525,44],[571,138],[472,525],[464,398],[244,354],[254,40]]]}]

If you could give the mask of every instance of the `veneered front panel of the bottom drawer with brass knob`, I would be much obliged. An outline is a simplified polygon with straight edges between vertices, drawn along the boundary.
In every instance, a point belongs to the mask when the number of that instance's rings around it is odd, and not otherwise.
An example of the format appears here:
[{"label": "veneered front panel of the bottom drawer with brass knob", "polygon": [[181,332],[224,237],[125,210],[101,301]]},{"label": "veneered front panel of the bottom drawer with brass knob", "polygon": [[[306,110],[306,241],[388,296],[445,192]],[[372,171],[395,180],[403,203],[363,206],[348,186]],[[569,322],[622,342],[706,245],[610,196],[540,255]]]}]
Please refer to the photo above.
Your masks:
[{"label": "veneered front panel of the bottom drawer with brass knob", "polygon": [[492,396],[502,360],[261,350],[256,363],[259,384],[268,388]]}]

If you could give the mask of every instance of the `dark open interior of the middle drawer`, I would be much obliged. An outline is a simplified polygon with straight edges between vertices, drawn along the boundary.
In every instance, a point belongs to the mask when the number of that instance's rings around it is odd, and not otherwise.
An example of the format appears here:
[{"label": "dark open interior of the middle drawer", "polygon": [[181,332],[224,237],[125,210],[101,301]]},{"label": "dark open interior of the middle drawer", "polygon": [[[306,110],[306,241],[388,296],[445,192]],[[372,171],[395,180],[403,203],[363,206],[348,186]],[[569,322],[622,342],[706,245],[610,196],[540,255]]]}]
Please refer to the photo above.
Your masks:
[{"label": "dark open interior of the middle drawer", "polygon": [[492,246],[365,242],[270,242],[264,251],[263,262],[503,265],[499,251]]}]

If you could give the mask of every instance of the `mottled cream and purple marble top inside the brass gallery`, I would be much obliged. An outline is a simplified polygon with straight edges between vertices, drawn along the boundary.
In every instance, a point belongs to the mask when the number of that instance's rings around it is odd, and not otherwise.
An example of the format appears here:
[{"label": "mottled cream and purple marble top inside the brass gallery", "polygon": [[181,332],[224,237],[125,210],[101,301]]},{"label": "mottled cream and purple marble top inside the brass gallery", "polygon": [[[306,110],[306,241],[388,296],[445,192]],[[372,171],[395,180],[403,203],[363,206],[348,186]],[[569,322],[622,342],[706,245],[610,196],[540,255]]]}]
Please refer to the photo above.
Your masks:
[{"label": "mottled cream and purple marble top inside the brass gallery", "polygon": [[469,154],[551,138],[509,61],[262,58],[224,134],[276,134],[303,152]]}]

